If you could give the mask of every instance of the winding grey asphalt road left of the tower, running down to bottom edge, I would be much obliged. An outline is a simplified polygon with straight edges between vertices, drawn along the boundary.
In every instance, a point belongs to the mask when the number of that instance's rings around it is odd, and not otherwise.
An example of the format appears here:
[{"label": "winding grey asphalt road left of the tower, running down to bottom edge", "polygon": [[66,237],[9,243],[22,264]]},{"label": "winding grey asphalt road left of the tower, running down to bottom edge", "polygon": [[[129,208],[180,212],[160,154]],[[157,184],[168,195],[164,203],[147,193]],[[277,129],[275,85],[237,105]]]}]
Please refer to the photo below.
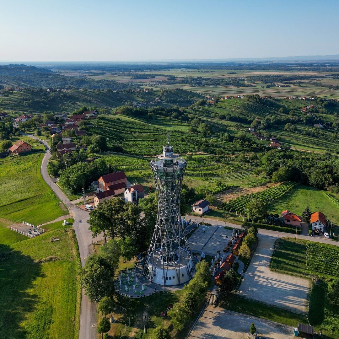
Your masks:
[{"label": "winding grey asphalt road left of the tower, running down to bottom edge", "polygon": [[[65,194],[61,191],[61,189],[55,184],[55,182],[49,177],[47,173],[47,163],[51,158],[51,154],[49,153],[49,145],[46,141],[41,140],[33,135],[25,134],[32,139],[37,139],[41,141],[46,147],[46,153],[42,159],[41,163],[41,175],[47,185],[49,185],[57,197],[67,206],[69,213],[74,218],[73,228],[77,237],[79,253],[81,258],[82,267],[85,265],[87,257],[92,254],[91,244],[92,242],[99,240],[98,238],[92,238],[92,232],[88,230],[88,224],[86,221],[88,220],[88,211],[84,211],[81,208],[73,205],[71,201],[65,196]],[[79,339],[96,339],[97,331],[96,327],[92,327],[97,323],[96,316],[96,305],[91,303],[88,298],[84,295],[84,291],[82,290],[82,298],[81,298],[81,309],[80,309],[80,331],[79,331]]]}]

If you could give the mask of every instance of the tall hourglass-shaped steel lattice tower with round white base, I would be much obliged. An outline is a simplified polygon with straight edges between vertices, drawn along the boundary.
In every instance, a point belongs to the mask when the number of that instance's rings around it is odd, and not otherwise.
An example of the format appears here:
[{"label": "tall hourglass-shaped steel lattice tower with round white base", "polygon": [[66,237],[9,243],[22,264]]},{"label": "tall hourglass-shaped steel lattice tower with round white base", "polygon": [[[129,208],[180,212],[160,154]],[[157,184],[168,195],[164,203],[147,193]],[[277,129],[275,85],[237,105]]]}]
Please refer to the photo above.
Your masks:
[{"label": "tall hourglass-shaped steel lattice tower with round white base", "polygon": [[187,161],[167,145],[157,160],[149,162],[158,194],[157,221],[149,246],[144,275],[161,285],[190,280],[195,265],[180,216],[180,189]]}]

